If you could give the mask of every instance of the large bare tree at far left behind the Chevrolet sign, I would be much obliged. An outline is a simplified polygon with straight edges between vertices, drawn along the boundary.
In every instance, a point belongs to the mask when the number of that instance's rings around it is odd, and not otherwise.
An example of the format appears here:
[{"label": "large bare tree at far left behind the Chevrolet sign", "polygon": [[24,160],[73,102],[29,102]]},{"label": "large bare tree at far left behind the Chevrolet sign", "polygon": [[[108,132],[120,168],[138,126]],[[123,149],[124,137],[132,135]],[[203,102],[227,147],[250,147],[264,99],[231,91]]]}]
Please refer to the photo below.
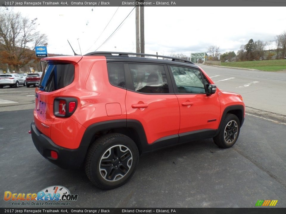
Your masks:
[{"label": "large bare tree at far left behind the Chevrolet sign", "polygon": [[35,46],[47,45],[47,36],[36,30],[37,18],[22,17],[13,9],[0,8],[0,62],[18,71],[37,61]]}]

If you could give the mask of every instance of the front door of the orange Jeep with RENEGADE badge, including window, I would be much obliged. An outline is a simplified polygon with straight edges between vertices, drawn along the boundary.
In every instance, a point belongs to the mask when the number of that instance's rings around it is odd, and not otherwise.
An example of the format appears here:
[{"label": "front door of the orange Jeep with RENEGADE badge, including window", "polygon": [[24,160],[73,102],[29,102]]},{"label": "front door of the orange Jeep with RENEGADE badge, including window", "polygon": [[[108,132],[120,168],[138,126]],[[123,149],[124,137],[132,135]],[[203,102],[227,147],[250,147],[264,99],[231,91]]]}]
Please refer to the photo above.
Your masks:
[{"label": "front door of the orange Jeep with RENEGADE badge, including window", "polygon": [[168,66],[180,106],[179,136],[207,137],[215,133],[220,120],[220,101],[217,93],[206,94],[206,78],[199,69]]}]

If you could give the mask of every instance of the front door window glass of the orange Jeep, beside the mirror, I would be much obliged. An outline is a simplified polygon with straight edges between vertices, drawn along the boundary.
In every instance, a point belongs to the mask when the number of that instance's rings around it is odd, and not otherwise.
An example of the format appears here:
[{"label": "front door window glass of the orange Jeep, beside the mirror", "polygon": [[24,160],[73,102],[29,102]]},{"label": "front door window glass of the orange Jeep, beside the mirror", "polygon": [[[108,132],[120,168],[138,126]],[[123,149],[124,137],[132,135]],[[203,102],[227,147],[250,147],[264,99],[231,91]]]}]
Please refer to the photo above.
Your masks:
[{"label": "front door window glass of the orange Jeep, beside the mirror", "polygon": [[170,66],[179,93],[206,93],[199,70]]}]

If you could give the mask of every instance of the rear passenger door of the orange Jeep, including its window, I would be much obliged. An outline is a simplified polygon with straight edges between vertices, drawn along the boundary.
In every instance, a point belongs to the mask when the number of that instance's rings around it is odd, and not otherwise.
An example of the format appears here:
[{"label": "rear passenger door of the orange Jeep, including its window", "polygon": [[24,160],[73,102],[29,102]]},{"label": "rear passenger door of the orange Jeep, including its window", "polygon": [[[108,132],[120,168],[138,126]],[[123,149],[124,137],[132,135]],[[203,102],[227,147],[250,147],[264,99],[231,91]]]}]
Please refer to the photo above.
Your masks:
[{"label": "rear passenger door of the orange Jeep, including its window", "polygon": [[[178,143],[180,109],[167,66],[125,63],[127,120],[142,124],[148,144]],[[159,145],[157,144],[157,145]]]}]

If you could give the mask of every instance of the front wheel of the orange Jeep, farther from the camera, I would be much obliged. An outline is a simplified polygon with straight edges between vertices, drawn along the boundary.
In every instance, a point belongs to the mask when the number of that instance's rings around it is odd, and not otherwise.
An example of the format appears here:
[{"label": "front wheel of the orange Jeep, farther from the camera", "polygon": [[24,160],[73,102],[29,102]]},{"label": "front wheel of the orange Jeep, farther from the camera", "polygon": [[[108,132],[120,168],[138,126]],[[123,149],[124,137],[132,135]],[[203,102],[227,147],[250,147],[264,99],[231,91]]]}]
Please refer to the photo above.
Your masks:
[{"label": "front wheel of the orange Jeep, farther from the camera", "polygon": [[220,132],[213,138],[215,144],[221,148],[232,147],[240,132],[240,121],[234,114],[226,114]]}]

